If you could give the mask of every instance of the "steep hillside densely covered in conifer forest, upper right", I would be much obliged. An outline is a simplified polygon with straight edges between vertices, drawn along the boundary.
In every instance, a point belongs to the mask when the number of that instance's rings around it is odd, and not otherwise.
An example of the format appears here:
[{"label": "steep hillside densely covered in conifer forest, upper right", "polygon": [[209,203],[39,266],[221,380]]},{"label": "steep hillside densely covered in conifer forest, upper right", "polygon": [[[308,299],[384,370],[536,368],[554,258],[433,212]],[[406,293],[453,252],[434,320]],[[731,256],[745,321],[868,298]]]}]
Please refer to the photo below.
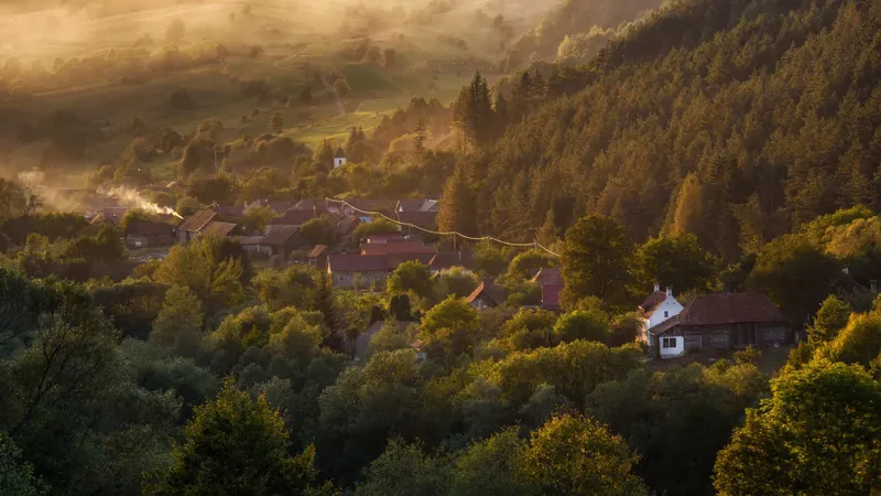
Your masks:
[{"label": "steep hillside densely covered in conifer forest, upper right", "polygon": [[836,208],[881,207],[881,2],[688,0],[603,50],[591,83],[474,165],[486,231],[554,212],[736,257]]}]

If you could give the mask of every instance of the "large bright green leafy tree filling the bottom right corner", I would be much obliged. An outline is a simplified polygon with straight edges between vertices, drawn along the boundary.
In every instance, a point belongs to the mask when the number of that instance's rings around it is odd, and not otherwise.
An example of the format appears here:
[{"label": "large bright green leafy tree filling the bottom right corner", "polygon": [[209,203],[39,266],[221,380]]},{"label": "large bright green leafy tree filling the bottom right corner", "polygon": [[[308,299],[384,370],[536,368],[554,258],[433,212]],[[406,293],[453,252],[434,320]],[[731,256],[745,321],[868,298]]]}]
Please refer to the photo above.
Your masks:
[{"label": "large bright green leafy tree filling the bottom right corner", "polygon": [[869,494],[878,487],[878,381],[816,360],[771,382],[773,397],[716,460],[720,495]]}]

